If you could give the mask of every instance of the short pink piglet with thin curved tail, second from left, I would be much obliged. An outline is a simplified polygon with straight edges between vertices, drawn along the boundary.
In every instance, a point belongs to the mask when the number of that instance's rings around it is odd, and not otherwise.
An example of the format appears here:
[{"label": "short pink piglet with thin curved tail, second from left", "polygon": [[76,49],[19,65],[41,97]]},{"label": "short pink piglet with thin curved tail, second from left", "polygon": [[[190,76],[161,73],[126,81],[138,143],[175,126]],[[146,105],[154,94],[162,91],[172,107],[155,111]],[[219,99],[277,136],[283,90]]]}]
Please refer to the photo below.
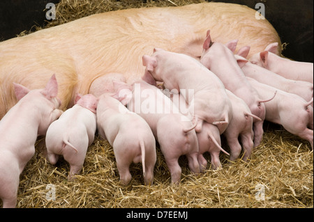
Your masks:
[{"label": "short pink piglet with thin curved tail, second from left", "polygon": [[96,132],[97,98],[91,94],[77,95],[75,103],[52,122],[45,138],[50,164],[56,164],[59,155],[70,164],[68,180],[82,170],[87,148]]}]

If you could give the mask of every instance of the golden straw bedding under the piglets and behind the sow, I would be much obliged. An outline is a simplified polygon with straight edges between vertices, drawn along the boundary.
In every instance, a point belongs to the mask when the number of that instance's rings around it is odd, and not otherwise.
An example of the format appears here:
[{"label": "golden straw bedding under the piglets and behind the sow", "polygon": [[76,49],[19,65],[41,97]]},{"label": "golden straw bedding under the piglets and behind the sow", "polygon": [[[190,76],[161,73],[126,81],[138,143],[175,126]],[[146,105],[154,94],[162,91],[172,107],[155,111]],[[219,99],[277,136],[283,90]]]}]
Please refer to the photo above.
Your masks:
[{"label": "golden straw bedding under the piglets and behind the sow", "polygon": [[[144,2],[62,0],[57,5],[57,19],[48,26],[107,10],[201,1]],[[56,166],[49,164],[40,152],[44,144],[41,138],[20,177],[17,207],[313,207],[311,145],[269,122],[264,123],[264,131],[261,145],[248,162],[230,162],[221,153],[223,168],[213,170],[207,153],[208,170],[192,175],[186,157],[181,157],[179,186],[170,185],[170,173],[159,148],[153,185],[143,185],[141,164],[130,166],[133,179],[128,186],[119,184],[113,149],[98,136],[87,151],[81,175],[68,181],[68,163],[61,159]],[[224,139],[222,143],[229,151]],[[54,187],[54,200],[46,196],[47,184]],[[261,192],[264,196],[259,195]]]}]

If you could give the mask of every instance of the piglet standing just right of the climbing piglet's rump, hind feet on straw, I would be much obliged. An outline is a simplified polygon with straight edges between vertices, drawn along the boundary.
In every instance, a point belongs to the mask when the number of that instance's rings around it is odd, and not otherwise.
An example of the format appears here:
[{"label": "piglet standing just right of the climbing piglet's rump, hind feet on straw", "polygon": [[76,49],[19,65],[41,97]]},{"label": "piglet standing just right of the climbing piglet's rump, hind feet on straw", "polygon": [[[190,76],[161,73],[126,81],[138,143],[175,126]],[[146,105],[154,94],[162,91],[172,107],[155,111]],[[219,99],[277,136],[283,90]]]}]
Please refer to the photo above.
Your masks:
[{"label": "piglet standing just right of the climbing piglet's rump, hind feet on straw", "polygon": [[244,150],[243,160],[246,161],[251,157],[253,150],[253,117],[248,105],[239,97],[234,95],[230,90],[226,90],[227,95],[232,103],[232,120],[230,121],[227,129],[223,133],[227,139],[230,147],[230,160],[233,161],[239,157],[241,152],[241,145],[239,143],[239,136]]}]

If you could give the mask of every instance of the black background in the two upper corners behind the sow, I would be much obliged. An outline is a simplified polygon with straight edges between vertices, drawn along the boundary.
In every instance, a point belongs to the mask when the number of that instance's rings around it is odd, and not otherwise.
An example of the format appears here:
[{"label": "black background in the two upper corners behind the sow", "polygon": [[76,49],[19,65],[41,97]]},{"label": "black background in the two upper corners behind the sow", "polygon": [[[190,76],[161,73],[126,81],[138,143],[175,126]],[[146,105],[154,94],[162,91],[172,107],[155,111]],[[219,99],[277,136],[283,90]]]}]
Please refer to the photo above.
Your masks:
[{"label": "black background in the two upper corners behind the sow", "polygon": [[[210,1],[210,0],[208,0]],[[313,63],[313,0],[221,0],[255,9],[264,3],[265,17],[288,45],[283,55],[297,61]],[[43,26],[45,6],[58,0],[1,0],[0,41],[14,38],[34,25]],[[258,10],[258,8],[256,9]],[[35,29],[33,29],[35,30]]]}]

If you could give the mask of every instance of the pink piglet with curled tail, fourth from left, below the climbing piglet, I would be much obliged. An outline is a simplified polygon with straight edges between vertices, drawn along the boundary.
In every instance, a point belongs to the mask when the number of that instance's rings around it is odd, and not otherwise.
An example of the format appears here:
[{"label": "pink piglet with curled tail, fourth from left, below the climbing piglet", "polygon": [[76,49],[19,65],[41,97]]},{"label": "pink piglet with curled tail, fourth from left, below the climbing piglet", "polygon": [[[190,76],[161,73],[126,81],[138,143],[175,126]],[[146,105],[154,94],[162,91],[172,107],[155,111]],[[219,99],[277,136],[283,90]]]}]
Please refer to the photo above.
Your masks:
[{"label": "pink piglet with curled tail, fourth from left, below the climbing piglet", "polygon": [[151,127],[165,157],[171,182],[173,184],[180,182],[181,167],[178,160],[182,155],[188,158],[190,171],[200,173],[195,124],[181,114],[177,106],[160,89],[145,81],[135,81],[132,92],[127,93],[121,89],[119,100],[124,100],[127,95],[132,96],[125,100],[128,109],[142,116]]}]

